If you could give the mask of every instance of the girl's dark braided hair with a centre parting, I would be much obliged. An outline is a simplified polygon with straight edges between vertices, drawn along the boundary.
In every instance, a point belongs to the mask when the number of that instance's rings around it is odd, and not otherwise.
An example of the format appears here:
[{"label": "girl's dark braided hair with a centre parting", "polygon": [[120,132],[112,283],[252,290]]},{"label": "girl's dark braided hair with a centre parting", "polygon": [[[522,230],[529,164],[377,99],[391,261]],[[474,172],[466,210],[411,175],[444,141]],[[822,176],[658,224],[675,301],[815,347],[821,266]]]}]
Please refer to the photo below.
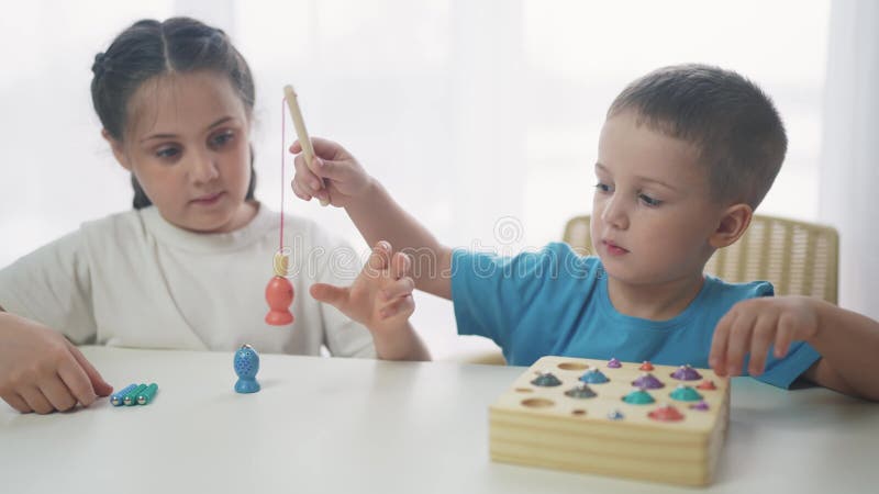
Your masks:
[{"label": "girl's dark braided hair with a centre parting", "polygon": [[[104,130],[122,142],[127,123],[129,100],[145,81],[164,74],[214,70],[229,77],[247,114],[253,114],[256,91],[247,61],[219,29],[194,19],[171,18],[165,22],[142,20],[123,31],[105,53],[94,56],[91,101]],[[152,204],[134,173],[134,209]],[[251,146],[251,184],[254,199],[256,172]]]}]

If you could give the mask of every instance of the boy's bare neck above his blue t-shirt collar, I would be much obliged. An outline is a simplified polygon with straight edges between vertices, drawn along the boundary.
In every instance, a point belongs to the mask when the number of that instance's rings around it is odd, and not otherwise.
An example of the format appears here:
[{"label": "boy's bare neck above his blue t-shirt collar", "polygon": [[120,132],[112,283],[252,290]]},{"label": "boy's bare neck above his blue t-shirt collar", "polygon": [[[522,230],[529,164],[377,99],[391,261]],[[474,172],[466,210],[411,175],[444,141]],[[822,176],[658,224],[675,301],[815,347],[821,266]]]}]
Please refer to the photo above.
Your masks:
[{"label": "boy's bare neck above his blue t-shirt collar", "polygon": [[621,314],[668,321],[690,305],[704,282],[701,273],[661,284],[628,284],[608,277],[608,296]]}]

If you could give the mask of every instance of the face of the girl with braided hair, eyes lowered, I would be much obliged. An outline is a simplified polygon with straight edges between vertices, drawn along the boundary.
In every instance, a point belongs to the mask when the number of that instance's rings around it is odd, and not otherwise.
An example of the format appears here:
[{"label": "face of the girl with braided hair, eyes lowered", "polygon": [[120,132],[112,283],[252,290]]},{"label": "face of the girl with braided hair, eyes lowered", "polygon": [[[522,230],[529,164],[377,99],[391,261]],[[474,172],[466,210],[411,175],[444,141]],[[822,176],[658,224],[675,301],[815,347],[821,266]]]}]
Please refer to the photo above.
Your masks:
[{"label": "face of the girl with braided hair, eyes lowered", "polygon": [[223,233],[253,218],[256,205],[244,200],[249,116],[229,78],[196,71],[147,80],[127,114],[124,143],[109,141],[166,221]]}]

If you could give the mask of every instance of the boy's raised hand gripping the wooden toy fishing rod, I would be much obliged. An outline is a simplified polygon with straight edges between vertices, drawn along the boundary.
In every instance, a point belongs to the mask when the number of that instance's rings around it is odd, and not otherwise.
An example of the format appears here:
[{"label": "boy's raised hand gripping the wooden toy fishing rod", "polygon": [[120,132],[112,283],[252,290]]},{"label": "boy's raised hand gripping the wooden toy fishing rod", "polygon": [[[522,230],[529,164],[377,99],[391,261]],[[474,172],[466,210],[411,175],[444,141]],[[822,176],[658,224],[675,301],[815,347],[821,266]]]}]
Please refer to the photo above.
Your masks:
[{"label": "boy's raised hand gripping the wooden toy fishing rod", "polygon": [[336,207],[346,207],[369,188],[371,178],[341,145],[320,137],[311,138],[314,159],[305,162],[299,141],[290,146],[290,153],[299,154],[293,160],[296,176],[290,186],[293,193],[304,201],[318,198]]}]

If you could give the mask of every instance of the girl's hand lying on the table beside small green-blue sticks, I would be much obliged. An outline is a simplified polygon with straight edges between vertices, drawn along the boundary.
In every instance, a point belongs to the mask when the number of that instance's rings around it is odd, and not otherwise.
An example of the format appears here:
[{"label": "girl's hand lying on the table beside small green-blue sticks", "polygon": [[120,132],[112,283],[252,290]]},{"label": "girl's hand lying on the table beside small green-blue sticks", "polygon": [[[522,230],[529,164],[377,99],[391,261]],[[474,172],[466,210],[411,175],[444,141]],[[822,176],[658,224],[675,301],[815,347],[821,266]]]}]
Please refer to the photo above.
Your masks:
[{"label": "girl's hand lying on the table beside small green-blue sticks", "polygon": [[0,397],[21,413],[47,414],[91,405],[108,384],[62,334],[0,313]]}]

